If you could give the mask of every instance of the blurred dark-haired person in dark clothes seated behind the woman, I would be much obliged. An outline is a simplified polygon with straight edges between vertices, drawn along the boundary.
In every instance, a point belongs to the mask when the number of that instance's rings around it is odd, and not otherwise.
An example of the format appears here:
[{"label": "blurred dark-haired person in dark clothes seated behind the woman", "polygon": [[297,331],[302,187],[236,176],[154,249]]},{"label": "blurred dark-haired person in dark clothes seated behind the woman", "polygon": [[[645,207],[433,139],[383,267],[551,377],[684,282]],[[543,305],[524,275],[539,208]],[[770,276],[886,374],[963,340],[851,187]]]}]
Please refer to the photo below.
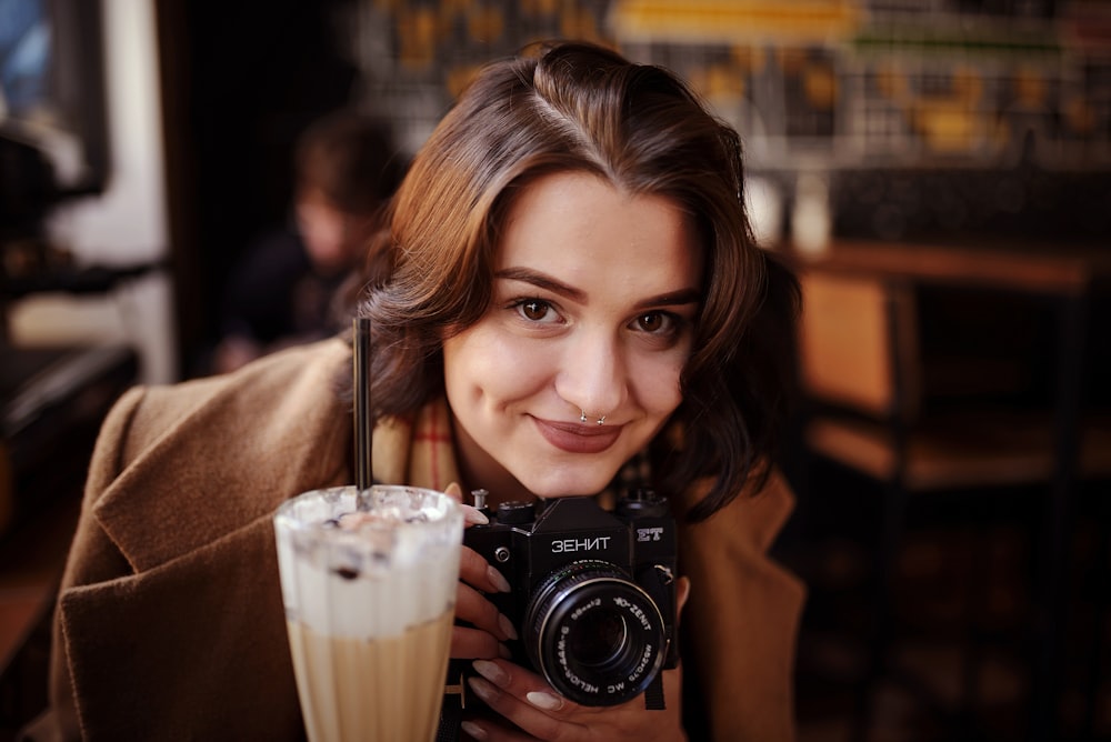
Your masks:
[{"label": "blurred dark-haired person in dark clothes seated behind the woman", "polygon": [[401,179],[384,123],[341,110],[299,138],[289,222],[251,244],[232,269],[212,371],[233,371],[288,345],[334,334],[349,314],[337,292],[381,227]]}]

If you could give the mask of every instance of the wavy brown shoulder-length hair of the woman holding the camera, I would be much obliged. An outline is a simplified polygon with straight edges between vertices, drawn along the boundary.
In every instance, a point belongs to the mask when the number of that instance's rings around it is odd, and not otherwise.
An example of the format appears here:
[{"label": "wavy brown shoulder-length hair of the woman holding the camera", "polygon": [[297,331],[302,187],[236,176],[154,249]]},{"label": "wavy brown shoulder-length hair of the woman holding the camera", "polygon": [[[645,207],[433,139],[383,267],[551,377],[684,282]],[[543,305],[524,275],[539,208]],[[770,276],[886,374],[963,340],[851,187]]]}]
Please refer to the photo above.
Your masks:
[{"label": "wavy brown shoulder-length hair of the woman holding the camera", "polygon": [[359,307],[372,322],[376,414],[411,414],[443,393],[442,338],[487,311],[513,199],[568,171],[667,197],[695,217],[707,269],[673,418],[682,435],[661,434],[652,448],[662,491],[713,478],[688,513],[702,520],[768,475],[791,385],[798,285],[752,239],[737,132],[671,72],[602,47],[547,44],[489,64],[414,158]]}]

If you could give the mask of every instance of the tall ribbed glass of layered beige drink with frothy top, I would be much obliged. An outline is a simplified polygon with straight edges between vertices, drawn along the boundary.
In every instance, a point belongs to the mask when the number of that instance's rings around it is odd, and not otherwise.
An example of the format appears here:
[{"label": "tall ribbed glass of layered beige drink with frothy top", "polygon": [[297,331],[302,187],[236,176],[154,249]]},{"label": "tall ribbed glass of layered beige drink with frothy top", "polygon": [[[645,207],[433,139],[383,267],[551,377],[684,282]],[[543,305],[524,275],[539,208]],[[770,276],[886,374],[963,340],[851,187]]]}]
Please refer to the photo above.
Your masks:
[{"label": "tall ribbed glass of layered beige drink with frothy top", "polygon": [[309,740],[431,742],[459,580],[459,505],[411,487],[318,490],[283,503],[274,532]]}]

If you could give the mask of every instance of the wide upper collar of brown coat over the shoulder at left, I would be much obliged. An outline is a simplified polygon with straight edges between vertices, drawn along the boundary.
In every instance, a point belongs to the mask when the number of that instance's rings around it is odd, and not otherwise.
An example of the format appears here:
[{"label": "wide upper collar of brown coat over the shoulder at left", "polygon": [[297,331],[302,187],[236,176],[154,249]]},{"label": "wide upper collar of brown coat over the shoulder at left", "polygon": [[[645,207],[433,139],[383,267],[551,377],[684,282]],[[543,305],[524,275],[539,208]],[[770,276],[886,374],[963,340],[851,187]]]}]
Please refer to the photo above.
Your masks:
[{"label": "wide upper collar of brown coat over the shoulder at left", "polygon": [[193,395],[148,391],[128,432],[142,449],[93,505],[137,572],[200,549],[307,489],[343,482],[351,423],[333,381],[349,351],[336,341],[318,354],[287,388],[266,383],[263,362],[239,383],[183,384]]}]

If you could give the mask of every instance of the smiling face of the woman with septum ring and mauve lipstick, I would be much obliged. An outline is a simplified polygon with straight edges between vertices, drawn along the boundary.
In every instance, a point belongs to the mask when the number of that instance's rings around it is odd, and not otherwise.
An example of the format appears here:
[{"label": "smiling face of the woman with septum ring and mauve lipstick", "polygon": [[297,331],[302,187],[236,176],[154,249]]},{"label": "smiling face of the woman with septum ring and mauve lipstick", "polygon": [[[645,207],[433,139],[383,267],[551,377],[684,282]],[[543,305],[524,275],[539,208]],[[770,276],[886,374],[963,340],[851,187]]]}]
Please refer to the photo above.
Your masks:
[{"label": "smiling face of the woman with septum ring and mauve lipstick", "polygon": [[443,348],[466,484],[496,500],[602,490],[681,401],[701,278],[693,221],[669,199],[588,173],[522,191],[490,307]]}]

